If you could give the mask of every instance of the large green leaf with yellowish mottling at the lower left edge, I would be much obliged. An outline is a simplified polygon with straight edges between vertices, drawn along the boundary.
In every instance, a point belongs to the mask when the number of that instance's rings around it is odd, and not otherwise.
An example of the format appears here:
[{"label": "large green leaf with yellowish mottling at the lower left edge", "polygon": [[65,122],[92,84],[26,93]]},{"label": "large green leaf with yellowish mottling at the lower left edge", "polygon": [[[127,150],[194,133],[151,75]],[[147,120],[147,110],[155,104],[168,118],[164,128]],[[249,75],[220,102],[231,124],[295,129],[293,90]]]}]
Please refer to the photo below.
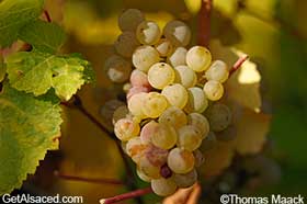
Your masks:
[{"label": "large green leaf with yellowish mottling at the lower left edge", "polygon": [[0,195],[20,188],[58,148],[60,107],[4,84],[0,93]]}]

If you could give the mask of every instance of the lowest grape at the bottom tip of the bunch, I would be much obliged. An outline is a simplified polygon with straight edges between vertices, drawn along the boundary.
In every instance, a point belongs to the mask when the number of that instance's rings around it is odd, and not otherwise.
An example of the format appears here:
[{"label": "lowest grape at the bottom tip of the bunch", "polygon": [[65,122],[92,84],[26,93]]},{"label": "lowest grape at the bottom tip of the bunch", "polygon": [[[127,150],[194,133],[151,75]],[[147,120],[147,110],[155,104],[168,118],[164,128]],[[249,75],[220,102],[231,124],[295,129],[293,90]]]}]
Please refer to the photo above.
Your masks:
[{"label": "lowest grape at the bottom tip of the bunch", "polygon": [[154,193],[160,196],[168,196],[175,192],[177,184],[173,181],[173,178],[160,178],[151,180],[151,189]]}]

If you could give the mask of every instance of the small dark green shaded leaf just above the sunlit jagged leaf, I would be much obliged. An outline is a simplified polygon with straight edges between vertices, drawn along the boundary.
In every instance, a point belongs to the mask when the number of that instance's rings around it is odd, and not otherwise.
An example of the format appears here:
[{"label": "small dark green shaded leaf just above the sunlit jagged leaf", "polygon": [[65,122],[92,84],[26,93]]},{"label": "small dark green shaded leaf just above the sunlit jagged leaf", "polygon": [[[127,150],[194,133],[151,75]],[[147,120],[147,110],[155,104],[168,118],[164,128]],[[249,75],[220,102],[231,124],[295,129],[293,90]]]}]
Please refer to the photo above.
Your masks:
[{"label": "small dark green shaded leaf just above the sunlit jagged leaf", "polygon": [[38,50],[57,53],[64,44],[66,35],[56,23],[37,20],[25,25],[20,31],[19,38]]}]

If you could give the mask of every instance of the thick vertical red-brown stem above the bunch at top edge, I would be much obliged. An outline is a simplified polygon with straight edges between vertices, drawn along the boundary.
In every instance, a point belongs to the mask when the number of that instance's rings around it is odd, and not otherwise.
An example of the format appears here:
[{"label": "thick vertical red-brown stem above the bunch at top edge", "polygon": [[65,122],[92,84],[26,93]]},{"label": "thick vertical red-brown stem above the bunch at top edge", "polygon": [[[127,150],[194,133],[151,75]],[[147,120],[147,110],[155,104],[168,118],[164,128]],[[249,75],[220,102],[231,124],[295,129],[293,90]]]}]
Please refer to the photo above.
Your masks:
[{"label": "thick vertical red-brown stem above the bunch at top edge", "polygon": [[208,46],[211,36],[211,13],[213,0],[202,0],[198,14],[198,44]]}]

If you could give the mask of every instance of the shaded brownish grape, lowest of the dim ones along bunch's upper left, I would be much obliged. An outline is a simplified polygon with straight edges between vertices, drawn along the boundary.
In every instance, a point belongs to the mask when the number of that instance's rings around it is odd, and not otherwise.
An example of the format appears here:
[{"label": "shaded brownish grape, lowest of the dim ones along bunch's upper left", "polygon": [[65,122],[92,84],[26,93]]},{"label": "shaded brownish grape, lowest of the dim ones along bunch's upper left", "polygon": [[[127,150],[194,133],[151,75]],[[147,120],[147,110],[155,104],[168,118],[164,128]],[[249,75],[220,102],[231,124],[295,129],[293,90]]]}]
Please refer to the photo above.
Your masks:
[{"label": "shaded brownish grape, lowest of the dim ones along bunch's upper left", "polygon": [[104,69],[111,81],[125,82],[132,72],[132,65],[118,55],[113,55],[105,60]]}]

